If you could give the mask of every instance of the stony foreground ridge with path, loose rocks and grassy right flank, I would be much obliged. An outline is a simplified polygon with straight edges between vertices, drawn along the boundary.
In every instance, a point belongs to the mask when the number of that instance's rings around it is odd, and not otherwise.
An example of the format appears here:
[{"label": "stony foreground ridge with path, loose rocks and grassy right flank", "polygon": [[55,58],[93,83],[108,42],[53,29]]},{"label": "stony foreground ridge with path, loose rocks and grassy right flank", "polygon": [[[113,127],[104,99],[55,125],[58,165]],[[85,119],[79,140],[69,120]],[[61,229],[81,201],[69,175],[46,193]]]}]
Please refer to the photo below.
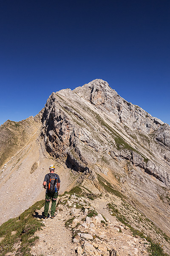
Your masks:
[{"label": "stony foreground ridge with path, loose rocks and grassy right flank", "polygon": [[[141,236],[142,230],[169,252],[170,244],[156,226],[125,204],[120,195],[97,194],[95,186],[87,191],[85,184],[79,186],[78,194],[59,198],[56,217],[45,219],[45,226],[36,233],[40,240],[31,249],[33,256],[149,256],[150,242]],[[42,218],[42,211],[36,211],[35,217]]]}]

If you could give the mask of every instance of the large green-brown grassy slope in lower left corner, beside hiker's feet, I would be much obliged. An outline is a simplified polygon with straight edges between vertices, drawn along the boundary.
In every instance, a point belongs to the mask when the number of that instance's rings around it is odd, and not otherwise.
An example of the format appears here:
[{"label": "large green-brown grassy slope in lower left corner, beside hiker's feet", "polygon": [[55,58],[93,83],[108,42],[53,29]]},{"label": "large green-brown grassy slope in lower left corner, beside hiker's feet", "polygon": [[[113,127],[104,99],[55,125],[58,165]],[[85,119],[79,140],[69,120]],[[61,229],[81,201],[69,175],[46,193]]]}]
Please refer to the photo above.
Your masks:
[{"label": "large green-brown grassy slope in lower left corner, beside hiker's feet", "polygon": [[43,226],[42,221],[33,217],[36,209],[41,209],[45,201],[39,201],[19,217],[12,218],[0,226],[0,237],[3,240],[0,242],[0,256],[5,256],[6,253],[14,251],[14,245],[20,243],[16,251],[16,256],[31,256],[30,247],[38,239],[34,236],[37,230]]}]

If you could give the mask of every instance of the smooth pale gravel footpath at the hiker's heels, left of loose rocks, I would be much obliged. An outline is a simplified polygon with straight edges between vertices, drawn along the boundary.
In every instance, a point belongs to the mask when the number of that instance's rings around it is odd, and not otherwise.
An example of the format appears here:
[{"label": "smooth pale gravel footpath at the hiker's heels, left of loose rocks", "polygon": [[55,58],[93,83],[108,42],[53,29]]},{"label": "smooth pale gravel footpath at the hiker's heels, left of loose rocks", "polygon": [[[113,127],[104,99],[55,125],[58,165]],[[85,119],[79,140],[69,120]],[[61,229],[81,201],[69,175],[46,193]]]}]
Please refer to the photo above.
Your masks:
[{"label": "smooth pale gravel footpath at the hiker's heels, left of loose rocks", "polygon": [[[38,211],[39,216],[43,208]],[[68,212],[57,212],[53,219],[43,220],[45,225],[42,230],[36,233],[39,241],[31,249],[33,256],[76,256],[75,245],[72,244],[72,233],[65,227],[65,219],[68,218]]]}]

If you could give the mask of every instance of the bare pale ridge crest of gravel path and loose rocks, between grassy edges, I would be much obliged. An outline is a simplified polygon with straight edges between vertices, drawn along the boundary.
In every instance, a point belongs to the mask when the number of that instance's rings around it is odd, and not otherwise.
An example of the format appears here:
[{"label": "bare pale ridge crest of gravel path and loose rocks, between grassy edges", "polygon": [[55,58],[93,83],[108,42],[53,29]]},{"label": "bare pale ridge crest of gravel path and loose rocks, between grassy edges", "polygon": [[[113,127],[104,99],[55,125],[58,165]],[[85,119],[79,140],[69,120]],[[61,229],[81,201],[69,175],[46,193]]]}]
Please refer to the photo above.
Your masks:
[{"label": "bare pale ridge crest of gravel path and loose rocks, between grassy edges", "polygon": [[[32,247],[31,254],[33,256],[149,256],[147,241],[133,237],[130,230],[105,209],[106,203],[105,198],[91,201],[77,195],[65,195],[59,198],[57,215],[54,219],[43,220],[45,226],[35,234],[40,239]],[[38,211],[39,216],[42,211],[43,208]]]}]

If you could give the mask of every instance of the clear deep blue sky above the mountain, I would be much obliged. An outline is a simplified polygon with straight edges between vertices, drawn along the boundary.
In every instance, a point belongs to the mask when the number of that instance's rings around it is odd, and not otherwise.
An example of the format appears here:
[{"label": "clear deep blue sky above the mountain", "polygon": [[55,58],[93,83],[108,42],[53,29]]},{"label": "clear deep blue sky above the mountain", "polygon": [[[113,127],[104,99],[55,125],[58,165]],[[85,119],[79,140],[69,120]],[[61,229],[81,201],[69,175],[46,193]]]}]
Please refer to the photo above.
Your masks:
[{"label": "clear deep blue sky above the mountain", "polygon": [[170,124],[169,0],[0,0],[0,124],[94,79]]}]

